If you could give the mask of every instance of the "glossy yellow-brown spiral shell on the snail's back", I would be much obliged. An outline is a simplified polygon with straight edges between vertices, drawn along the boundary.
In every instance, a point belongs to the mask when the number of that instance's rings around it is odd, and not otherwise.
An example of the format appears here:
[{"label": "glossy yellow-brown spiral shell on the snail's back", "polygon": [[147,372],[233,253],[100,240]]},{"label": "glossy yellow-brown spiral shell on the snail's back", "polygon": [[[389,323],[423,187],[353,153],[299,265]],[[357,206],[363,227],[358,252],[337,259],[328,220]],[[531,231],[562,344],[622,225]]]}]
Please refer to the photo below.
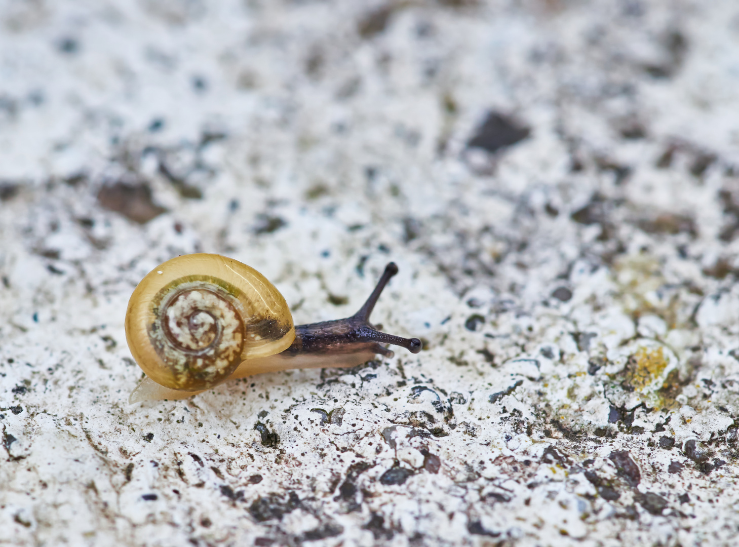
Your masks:
[{"label": "glossy yellow-brown spiral shell on the snail's back", "polygon": [[202,391],[243,361],[280,353],[295,339],[290,308],[265,276],[217,254],[168,260],[129,300],[126,340],[151,380]]}]

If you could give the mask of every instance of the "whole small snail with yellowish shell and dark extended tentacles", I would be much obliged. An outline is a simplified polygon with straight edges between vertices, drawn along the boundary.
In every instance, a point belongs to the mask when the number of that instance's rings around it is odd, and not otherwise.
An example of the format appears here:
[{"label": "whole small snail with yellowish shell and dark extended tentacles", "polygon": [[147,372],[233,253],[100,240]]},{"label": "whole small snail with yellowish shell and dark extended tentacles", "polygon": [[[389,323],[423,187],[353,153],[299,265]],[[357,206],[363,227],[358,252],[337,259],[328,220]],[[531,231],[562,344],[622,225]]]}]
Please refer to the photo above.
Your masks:
[{"label": "whole small snail with yellowish shell and dark extended tentacles", "polygon": [[248,265],[217,254],[177,256],[134,289],[126,341],[146,373],[130,403],[187,398],[231,378],[295,368],[353,367],[381,344],[418,353],[421,342],[382,333],[369,314],[398,266],[390,262],[360,310],[347,319],[293,325],[285,298]]}]

